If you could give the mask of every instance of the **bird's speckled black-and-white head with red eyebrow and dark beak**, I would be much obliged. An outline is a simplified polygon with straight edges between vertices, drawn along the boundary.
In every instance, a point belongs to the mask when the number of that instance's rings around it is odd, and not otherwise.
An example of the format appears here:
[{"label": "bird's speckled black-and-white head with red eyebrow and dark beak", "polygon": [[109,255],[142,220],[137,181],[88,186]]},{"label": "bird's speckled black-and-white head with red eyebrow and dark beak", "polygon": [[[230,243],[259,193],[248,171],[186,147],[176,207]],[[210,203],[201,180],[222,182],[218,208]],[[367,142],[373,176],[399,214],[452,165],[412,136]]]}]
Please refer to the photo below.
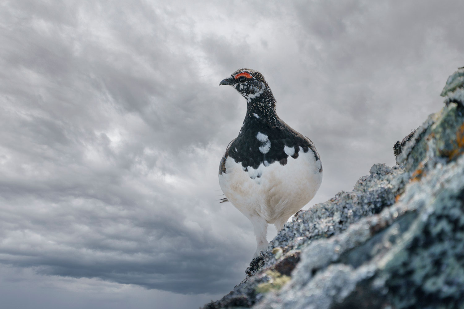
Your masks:
[{"label": "bird's speckled black-and-white head with red eyebrow and dark beak", "polygon": [[223,79],[219,85],[232,86],[247,101],[262,95],[269,88],[263,75],[252,69],[238,69],[230,77]]}]

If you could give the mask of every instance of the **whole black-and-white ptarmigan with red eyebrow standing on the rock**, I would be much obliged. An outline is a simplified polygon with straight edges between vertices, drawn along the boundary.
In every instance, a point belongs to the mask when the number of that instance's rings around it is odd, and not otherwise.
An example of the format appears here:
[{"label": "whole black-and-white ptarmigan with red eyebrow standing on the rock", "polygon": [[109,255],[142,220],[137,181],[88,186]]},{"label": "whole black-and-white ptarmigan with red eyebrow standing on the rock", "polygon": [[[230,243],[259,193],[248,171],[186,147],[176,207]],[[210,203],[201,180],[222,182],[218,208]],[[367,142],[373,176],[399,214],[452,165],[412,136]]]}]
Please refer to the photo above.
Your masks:
[{"label": "whole black-and-white ptarmigan with red eyebrow standing on the rock", "polygon": [[268,246],[267,224],[281,230],[316,195],[322,164],[313,142],[277,116],[261,73],[238,69],[220,85],[232,86],[247,101],[242,128],[220,161],[219,184],[253,224],[258,257]]}]

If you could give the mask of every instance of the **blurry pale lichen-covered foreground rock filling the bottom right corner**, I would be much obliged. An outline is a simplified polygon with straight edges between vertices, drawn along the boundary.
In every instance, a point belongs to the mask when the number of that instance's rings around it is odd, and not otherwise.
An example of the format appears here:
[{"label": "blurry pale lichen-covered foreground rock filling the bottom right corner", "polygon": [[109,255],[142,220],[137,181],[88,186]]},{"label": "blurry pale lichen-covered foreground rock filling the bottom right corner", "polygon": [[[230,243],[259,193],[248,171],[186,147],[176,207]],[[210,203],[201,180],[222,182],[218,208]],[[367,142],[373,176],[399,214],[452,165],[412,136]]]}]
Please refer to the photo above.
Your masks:
[{"label": "blurry pale lichen-covered foreground rock filling the bottom right corner", "polygon": [[253,308],[463,308],[463,180],[464,156],[437,164],[393,206],[313,241]]}]

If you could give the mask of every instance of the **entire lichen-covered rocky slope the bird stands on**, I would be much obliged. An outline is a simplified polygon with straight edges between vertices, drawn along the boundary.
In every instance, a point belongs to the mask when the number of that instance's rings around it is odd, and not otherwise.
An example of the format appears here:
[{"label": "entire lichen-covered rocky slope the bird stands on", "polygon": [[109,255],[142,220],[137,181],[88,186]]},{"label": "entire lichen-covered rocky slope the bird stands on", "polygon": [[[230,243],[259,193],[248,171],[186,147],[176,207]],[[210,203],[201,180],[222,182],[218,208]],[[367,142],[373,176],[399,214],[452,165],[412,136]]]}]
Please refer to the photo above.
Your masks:
[{"label": "entire lichen-covered rocky slope the bird stands on", "polygon": [[351,192],[298,212],[205,309],[464,308],[464,68]]}]

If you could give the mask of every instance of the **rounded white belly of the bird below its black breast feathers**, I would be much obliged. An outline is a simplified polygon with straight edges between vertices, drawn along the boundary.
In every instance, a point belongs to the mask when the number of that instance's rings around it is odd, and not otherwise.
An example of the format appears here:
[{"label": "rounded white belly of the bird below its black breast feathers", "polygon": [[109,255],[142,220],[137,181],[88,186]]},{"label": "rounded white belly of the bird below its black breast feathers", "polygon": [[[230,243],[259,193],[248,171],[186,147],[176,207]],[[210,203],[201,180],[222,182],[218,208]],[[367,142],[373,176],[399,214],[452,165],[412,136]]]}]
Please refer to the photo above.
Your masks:
[{"label": "rounded white belly of the bird below its black breast feathers", "polygon": [[322,182],[320,167],[321,161],[310,150],[299,151],[296,159],[288,157],[285,165],[261,164],[247,171],[228,157],[219,184],[227,199],[249,219],[259,216],[267,223],[284,224],[316,195]]}]

